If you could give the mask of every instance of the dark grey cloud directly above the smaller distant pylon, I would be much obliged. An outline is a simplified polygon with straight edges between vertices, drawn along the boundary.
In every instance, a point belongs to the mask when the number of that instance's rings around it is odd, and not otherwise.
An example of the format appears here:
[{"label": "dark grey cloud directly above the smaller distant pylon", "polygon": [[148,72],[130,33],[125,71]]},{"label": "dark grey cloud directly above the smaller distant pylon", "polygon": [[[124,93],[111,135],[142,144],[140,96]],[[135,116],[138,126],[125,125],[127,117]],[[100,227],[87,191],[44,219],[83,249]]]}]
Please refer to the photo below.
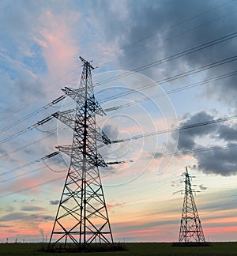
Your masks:
[{"label": "dark grey cloud directly above the smaller distant pylon", "polygon": [[[213,120],[213,115],[207,114],[205,111],[198,112],[195,115],[187,115],[188,119],[182,122],[181,126],[205,122]],[[236,126],[228,123],[216,123],[213,125],[199,126],[187,130],[179,131],[178,149],[181,151],[190,149],[205,149],[195,142],[197,137],[209,136],[216,141],[225,141],[227,144],[236,141],[237,137]],[[218,174],[223,176],[235,175],[237,173],[237,149],[236,147],[227,147],[224,149],[215,149],[205,152],[194,152],[194,157],[198,161],[199,170],[210,174]],[[200,186],[200,189],[201,186]]]}]

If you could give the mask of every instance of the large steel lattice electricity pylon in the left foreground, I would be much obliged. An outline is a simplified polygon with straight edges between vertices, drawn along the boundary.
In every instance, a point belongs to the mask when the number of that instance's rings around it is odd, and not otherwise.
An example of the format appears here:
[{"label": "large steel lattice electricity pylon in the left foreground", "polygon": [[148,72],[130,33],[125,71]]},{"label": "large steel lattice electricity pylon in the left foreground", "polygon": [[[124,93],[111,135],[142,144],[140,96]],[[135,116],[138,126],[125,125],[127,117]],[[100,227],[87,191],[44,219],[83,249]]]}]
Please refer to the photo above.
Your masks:
[{"label": "large steel lattice electricity pylon in the left foreground", "polygon": [[[81,57],[80,57],[81,58]],[[72,145],[59,145],[70,156],[70,168],[55,216],[49,249],[58,243],[113,243],[111,224],[100,180],[100,167],[106,167],[97,141],[110,144],[106,134],[96,125],[96,114],[105,115],[96,101],[92,85],[92,65],[81,58],[83,70],[79,88],[62,91],[76,102],[76,108],[56,112],[55,118],[73,129]]]}]

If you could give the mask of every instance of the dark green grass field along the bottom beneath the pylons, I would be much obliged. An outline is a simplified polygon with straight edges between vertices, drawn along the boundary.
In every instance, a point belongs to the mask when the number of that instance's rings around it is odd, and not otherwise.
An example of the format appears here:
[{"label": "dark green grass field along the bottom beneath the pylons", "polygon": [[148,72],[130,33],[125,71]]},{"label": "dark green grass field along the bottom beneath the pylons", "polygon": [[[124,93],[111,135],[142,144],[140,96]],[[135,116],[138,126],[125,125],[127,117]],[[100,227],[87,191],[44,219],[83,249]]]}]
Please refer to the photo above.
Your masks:
[{"label": "dark green grass field along the bottom beneath the pylons", "polygon": [[[39,251],[42,243],[1,243],[0,255],[69,255]],[[70,253],[70,255],[237,255],[237,243],[211,243],[210,247],[172,247],[172,243],[125,243],[126,251]]]}]

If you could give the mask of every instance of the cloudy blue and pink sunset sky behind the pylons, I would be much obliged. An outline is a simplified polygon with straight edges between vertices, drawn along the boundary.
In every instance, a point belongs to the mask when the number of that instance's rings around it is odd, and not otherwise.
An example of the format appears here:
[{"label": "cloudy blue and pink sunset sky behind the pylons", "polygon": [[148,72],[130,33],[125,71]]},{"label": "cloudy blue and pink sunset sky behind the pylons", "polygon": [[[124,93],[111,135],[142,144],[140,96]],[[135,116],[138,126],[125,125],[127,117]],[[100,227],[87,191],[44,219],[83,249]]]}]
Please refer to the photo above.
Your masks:
[{"label": "cloudy blue and pink sunset sky behind the pylons", "polygon": [[69,159],[42,158],[72,133],[34,125],[73,108],[48,104],[78,88],[79,56],[96,67],[98,126],[111,140],[145,135],[99,149],[134,160],[100,168],[115,241],[178,240],[186,166],[205,239],[236,241],[236,119],[174,131],[236,115],[236,23],[236,0],[2,0],[0,242],[51,235]]}]

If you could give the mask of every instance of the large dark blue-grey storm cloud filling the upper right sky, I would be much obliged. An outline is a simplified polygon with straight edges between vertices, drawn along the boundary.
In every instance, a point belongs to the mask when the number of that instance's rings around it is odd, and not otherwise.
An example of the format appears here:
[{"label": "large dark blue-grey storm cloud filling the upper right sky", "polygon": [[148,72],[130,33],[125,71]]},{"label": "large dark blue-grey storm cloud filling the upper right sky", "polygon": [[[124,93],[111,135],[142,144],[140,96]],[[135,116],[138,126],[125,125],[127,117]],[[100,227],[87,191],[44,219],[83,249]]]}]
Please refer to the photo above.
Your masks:
[{"label": "large dark blue-grey storm cloud filling the upper right sky", "polygon": [[[235,1],[125,1],[93,2],[95,17],[100,20],[108,41],[118,43],[124,56],[123,68],[133,70],[161,58],[197,47],[236,31]],[[100,16],[99,16],[100,14]],[[186,55],[162,66],[156,66],[159,77],[203,66],[236,55],[236,40],[216,44]],[[236,63],[209,70],[208,77],[236,70]],[[146,70],[151,74],[151,70]],[[205,88],[208,96],[236,104],[235,77],[224,79]],[[230,100],[231,99],[231,100]]]}]

